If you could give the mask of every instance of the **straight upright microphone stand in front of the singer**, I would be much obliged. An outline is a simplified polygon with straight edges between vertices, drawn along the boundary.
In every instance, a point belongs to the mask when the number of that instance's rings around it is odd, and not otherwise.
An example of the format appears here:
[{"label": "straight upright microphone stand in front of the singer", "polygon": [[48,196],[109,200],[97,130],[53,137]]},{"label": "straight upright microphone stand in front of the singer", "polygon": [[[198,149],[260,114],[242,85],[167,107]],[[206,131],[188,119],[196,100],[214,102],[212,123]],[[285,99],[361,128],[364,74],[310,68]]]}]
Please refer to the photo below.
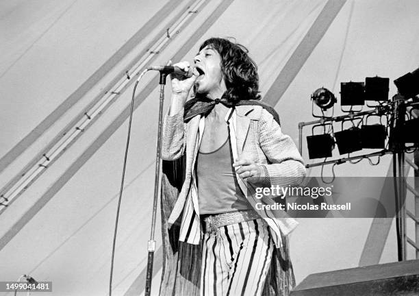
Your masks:
[{"label": "straight upright microphone stand in front of the singer", "polygon": [[155,155],[155,180],[154,180],[154,199],[153,199],[153,215],[151,217],[151,234],[148,243],[149,256],[147,258],[147,275],[145,285],[145,296],[151,295],[151,281],[153,280],[153,260],[155,251],[155,220],[157,214],[157,199],[160,184],[160,151],[162,147],[162,127],[163,127],[163,102],[164,102],[164,86],[166,85],[167,73],[160,71],[160,104],[159,104],[159,125],[157,130],[157,152]]}]

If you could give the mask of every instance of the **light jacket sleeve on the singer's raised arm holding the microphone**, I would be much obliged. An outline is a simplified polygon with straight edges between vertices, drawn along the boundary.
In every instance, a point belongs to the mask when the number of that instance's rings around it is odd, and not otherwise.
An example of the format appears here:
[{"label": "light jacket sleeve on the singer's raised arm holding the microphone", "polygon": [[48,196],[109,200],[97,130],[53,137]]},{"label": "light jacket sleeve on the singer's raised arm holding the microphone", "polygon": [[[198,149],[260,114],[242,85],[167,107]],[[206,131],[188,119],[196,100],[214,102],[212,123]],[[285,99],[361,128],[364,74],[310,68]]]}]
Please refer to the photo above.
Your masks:
[{"label": "light jacket sleeve on the singer's raised arm holding the microphone", "polygon": [[162,159],[176,160],[183,155],[186,147],[183,109],[172,116],[166,115],[163,121]]}]

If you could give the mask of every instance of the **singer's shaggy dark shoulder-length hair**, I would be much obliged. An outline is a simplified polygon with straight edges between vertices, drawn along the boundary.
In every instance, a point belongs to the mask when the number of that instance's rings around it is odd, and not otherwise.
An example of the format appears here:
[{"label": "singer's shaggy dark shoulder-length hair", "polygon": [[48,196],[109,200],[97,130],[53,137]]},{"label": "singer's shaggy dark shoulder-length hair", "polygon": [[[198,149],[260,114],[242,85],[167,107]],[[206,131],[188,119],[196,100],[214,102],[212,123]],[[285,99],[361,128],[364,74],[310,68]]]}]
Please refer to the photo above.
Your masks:
[{"label": "singer's shaggy dark shoulder-length hair", "polygon": [[199,51],[205,47],[216,50],[221,57],[220,67],[227,87],[223,97],[229,103],[260,99],[257,65],[248,56],[246,47],[225,38],[207,39],[199,47]]}]

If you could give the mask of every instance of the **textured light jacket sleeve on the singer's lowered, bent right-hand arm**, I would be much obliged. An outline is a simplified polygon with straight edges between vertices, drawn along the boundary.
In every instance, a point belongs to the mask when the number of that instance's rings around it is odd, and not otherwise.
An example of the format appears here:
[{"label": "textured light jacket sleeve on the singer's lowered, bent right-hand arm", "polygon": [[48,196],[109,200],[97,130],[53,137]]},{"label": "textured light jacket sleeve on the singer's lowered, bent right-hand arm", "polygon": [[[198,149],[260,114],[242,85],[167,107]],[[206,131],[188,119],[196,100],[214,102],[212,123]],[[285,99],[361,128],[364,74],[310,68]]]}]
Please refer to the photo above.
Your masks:
[{"label": "textured light jacket sleeve on the singer's lowered, bent right-hand arm", "polygon": [[292,138],[283,134],[272,114],[265,109],[259,120],[259,145],[268,160],[264,165],[271,184],[301,184],[306,174],[303,158]]}]

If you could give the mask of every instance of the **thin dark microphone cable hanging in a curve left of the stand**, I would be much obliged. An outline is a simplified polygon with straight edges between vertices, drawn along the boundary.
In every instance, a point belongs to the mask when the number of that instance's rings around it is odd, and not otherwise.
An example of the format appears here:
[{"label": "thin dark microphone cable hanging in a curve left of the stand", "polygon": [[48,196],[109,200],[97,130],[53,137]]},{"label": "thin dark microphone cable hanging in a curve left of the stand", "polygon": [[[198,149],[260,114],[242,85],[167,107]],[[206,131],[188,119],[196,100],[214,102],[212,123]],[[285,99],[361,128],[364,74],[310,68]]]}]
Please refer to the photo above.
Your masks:
[{"label": "thin dark microphone cable hanging in a curve left of the stand", "polygon": [[132,114],[134,113],[134,99],[136,97],[136,88],[138,86],[138,82],[142,76],[144,76],[147,71],[150,69],[145,69],[139,75],[136,84],[134,85],[134,90],[132,91],[132,98],[131,98],[131,110],[129,111],[129,123],[128,123],[128,134],[127,134],[127,145],[125,146],[125,156],[124,156],[124,164],[123,164],[123,173],[120,180],[120,190],[119,190],[119,197],[118,197],[118,207],[116,208],[116,219],[115,219],[115,230],[114,230],[114,241],[112,243],[112,256],[111,256],[111,268],[110,268],[110,279],[109,279],[109,296],[112,296],[112,275],[114,273],[114,257],[115,257],[115,245],[116,245],[116,233],[118,232],[118,219],[119,219],[119,211],[120,211],[120,201],[122,200],[123,189],[124,189],[124,181],[125,181],[125,168],[127,167],[127,156],[128,156],[128,147],[129,147],[129,138],[131,136],[131,123],[132,123]]}]

